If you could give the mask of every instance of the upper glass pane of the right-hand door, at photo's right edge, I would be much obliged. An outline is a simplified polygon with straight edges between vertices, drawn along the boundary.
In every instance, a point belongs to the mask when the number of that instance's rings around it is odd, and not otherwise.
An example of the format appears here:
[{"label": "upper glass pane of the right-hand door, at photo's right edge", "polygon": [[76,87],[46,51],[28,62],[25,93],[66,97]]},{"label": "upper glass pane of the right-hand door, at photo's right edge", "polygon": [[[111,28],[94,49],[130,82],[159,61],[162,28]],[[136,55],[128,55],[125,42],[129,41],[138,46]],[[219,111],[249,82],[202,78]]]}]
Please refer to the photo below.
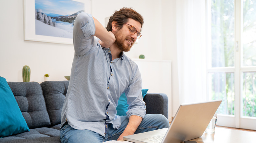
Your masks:
[{"label": "upper glass pane of the right-hand door, at photo's right edge", "polygon": [[244,0],[243,13],[243,66],[256,66],[256,0]]}]

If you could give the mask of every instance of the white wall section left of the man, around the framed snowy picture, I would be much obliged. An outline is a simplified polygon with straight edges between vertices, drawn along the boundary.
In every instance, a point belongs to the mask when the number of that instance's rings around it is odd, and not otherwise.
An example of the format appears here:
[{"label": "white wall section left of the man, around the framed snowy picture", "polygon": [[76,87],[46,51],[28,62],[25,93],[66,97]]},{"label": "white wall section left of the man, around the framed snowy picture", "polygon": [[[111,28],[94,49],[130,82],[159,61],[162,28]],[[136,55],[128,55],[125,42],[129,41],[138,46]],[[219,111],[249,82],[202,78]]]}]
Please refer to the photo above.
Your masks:
[{"label": "white wall section left of the man, around the framed snowy picture", "polygon": [[22,67],[31,69],[30,81],[65,80],[70,75],[74,48],[72,45],[24,41],[23,1],[0,1],[0,76],[7,81],[22,82]]}]

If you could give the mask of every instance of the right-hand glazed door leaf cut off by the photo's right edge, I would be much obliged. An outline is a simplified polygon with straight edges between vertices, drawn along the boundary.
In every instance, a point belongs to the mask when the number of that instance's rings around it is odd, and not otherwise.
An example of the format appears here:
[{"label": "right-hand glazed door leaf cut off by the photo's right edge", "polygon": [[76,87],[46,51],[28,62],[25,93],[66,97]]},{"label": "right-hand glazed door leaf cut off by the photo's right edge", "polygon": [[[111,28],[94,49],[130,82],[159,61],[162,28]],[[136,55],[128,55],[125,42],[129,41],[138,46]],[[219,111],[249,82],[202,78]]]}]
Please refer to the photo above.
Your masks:
[{"label": "right-hand glazed door leaf cut off by the photo's right edge", "polygon": [[256,130],[256,0],[241,2],[241,128]]}]

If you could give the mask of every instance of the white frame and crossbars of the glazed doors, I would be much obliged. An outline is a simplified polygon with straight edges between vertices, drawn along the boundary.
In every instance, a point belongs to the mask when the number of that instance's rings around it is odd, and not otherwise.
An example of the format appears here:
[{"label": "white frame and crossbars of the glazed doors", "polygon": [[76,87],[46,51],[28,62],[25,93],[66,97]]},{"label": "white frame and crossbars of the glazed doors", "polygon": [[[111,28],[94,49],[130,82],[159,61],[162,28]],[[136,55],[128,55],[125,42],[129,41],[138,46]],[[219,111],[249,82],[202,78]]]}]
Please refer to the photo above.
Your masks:
[{"label": "white frame and crossbars of the glazed doors", "polygon": [[[233,72],[234,73],[234,115],[220,115],[218,114],[217,125],[244,128],[256,130],[256,118],[255,117],[244,117],[243,116],[243,72],[255,72],[256,66],[244,67],[243,65],[243,48],[242,48],[242,32],[243,32],[243,0],[234,0],[235,3],[235,61],[234,67],[219,67],[211,68],[211,0],[206,0],[206,54],[208,55],[207,60],[207,75],[209,72]],[[209,79],[207,76],[207,84]],[[208,85],[211,86],[211,85]],[[208,87],[207,86],[207,87]],[[209,87],[207,88],[207,98],[209,99]]]}]

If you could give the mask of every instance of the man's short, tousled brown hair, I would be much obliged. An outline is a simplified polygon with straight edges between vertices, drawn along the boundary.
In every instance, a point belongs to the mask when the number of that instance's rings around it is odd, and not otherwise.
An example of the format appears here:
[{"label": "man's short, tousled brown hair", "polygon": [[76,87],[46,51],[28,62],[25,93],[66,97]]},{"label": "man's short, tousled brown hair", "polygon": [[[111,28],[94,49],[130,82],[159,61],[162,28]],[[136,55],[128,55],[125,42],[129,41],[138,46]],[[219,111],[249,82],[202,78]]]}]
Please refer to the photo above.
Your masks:
[{"label": "man's short, tousled brown hair", "polygon": [[107,30],[112,31],[112,22],[117,22],[117,27],[122,28],[123,24],[127,23],[128,18],[131,18],[133,20],[136,20],[140,23],[141,27],[144,23],[143,17],[132,8],[123,7],[119,11],[115,11],[115,13],[109,18],[109,22],[107,25]]}]

